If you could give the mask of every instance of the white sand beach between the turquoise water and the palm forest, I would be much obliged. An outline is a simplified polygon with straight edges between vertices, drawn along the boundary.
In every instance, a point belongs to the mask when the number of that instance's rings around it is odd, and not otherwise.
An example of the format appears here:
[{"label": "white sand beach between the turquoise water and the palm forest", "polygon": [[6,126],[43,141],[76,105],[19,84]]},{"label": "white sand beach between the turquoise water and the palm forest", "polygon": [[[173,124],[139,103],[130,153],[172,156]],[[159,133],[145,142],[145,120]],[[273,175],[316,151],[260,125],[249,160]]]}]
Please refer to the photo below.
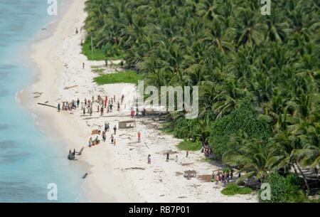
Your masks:
[{"label": "white sand beach between the turquoise water and the palm forest", "polygon": [[[31,58],[40,74],[30,90],[23,92],[24,97],[32,98],[28,107],[38,117],[40,125],[50,125],[65,140],[65,156],[69,149],[80,150],[85,147],[82,155],[77,156],[74,164],[89,164],[90,170],[85,178],[85,191],[90,201],[94,202],[257,202],[255,194],[224,196],[220,193],[222,184],[183,177],[183,171],[195,170],[198,176],[210,175],[212,171],[221,169],[218,164],[204,161],[200,151],[190,152],[176,147],[180,139],[164,134],[159,129],[158,120],[152,117],[136,119],[136,127],[118,129],[114,137],[117,144],[110,143],[110,135],[114,125],[119,121],[132,120],[129,116],[130,104],[133,100],[134,85],[112,84],[97,85],[92,79],[97,73],[92,65],[103,67],[103,61],[88,61],[81,54],[80,42],[85,32],[76,34],[75,29],[83,26],[86,14],[83,11],[85,0],[73,0],[59,21],[52,36],[44,39],[32,48]],[[85,68],[82,69],[82,63]],[[114,68],[106,68],[107,73]],[[41,94],[34,94],[35,92]],[[94,110],[93,115],[82,115],[80,108],[72,112],[57,112],[53,107],[37,105],[47,102],[56,106],[58,102],[68,100],[83,101],[92,95],[116,96],[117,100],[124,94],[124,103],[119,112],[105,113]],[[32,105],[32,106],[31,106]],[[124,108],[124,105],[126,106]],[[94,105],[94,108],[96,106]],[[92,129],[103,129],[105,122],[110,122],[107,141],[88,147]],[[100,128],[101,127],[101,128]],[[142,142],[137,142],[137,132],[142,132]],[[48,133],[48,132],[47,132]],[[100,139],[101,136],[99,137]],[[169,162],[166,152],[171,151]],[[63,153],[64,154],[64,153]],[[151,154],[151,164],[147,164]],[[176,155],[178,162],[176,162]],[[67,157],[65,159],[68,161]],[[82,179],[82,177],[79,177]]]}]

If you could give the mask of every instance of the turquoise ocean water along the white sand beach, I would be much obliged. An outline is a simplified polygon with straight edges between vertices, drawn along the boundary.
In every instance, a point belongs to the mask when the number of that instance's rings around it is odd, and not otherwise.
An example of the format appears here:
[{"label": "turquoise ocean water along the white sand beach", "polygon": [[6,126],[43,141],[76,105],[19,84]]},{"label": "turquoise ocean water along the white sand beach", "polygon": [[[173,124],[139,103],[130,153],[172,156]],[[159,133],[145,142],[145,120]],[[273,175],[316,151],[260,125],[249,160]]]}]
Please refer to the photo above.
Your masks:
[{"label": "turquoise ocean water along the white sand beach", "polygon": [[47,199],[50,183],[58,186],[58,202],[86,201],[85,171],[66,160],[63,142],[43,134],[15,100],[36,75],[27,48],[55,19],[47,7],[47,0],[0,1],[0,202],[55,202]]}]

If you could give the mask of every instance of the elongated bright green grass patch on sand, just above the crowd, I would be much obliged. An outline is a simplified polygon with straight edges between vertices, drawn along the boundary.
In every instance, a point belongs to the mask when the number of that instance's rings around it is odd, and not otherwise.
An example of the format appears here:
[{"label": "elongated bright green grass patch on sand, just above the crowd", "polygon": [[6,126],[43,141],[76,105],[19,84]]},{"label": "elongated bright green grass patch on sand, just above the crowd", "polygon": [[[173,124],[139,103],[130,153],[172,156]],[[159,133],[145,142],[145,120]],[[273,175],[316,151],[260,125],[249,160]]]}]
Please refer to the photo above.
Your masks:
[{"label": "elongated bright green grass patch on sand, just above the crowd", "polygon": [[112,73],[107,75],[100,75],[93,80],[98,85],[114,84],[114,83],[138,83],[138,80],[141,79],[139,75],[134,70],[127,70],[119,73]]}]

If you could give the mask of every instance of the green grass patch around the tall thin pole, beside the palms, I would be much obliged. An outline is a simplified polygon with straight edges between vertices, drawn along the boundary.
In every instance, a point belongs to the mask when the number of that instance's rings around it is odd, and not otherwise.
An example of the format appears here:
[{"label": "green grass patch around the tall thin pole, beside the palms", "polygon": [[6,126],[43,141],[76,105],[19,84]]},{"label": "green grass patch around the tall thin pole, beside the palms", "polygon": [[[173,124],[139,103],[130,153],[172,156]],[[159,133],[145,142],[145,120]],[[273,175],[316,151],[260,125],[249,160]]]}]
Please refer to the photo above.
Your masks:
[{"label": "green grass patch around the tall thin pole, beside the palms", "polygon": [[122,60],[125,58],[124,52],[118,46],[106,44],[102,48],[94,48],[93,53],[90,47],[91,40],[87,38],[85,43],[82,43],[82,54],[87,56],[88,60]]}]

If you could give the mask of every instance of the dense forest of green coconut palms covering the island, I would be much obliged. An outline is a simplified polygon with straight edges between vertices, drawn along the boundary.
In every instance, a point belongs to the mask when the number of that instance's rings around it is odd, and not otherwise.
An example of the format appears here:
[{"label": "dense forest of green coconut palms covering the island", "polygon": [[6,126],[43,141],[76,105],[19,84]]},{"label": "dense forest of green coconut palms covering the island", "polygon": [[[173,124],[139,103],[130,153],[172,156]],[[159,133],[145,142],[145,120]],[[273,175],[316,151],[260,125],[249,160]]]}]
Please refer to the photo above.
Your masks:
[{"label": "dense forest of green coconut palms covering the island", "polygon": [[176,137],[207,140],[244,172],[239,181],[291,171],[311,194],[304,171],[318,174],[320,164],[319,6],[272,1],[263,16],[260,0],[90,0],[85,29],[94,49],[123,56],[146,85],[199,87],[198,119],[168,117]]}]

